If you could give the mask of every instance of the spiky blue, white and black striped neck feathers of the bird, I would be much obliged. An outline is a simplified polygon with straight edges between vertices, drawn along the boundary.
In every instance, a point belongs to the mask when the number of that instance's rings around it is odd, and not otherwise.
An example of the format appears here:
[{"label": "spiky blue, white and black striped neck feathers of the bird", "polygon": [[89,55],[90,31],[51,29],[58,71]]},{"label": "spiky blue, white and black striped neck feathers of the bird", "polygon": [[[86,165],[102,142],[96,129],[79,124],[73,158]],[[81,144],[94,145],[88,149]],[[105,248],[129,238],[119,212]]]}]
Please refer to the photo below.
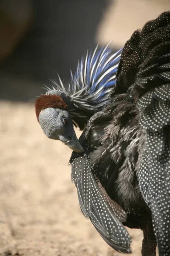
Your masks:
[{"label": "spiky blue, white and black striped neck feathers of the bird", "polygon": [[75,108],[69,109],[69,112],[74,116],[77,109],[99,111],[108,102],[111,88],[115,85],[122,49],[113,53],[108,45],[100,50],[98,48],[97,46],[94,52],[87,52],[78,62],[74,74],[71,71],[68,90],[60,78],[59,84],[53,81],[53,89],[61,91],[71,99]]}]

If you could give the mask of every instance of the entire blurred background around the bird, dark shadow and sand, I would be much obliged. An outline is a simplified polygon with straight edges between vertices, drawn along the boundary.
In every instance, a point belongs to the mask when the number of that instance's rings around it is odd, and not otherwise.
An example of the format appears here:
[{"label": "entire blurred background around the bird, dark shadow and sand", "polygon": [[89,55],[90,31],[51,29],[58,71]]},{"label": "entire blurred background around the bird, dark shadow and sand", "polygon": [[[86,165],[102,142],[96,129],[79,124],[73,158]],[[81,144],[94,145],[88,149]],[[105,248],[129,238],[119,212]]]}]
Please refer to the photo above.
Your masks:
[{"label": "entire blurred background around the bird, dark shadow and sand", "polygon": [[[169,0],[0,0],[0,256],[119,255],[83,217],[71,150],[42,133],[34,100],[57,73],[67,87],[87,49],[116,51],[167,10]],[[129,232],[140,256],[142,233]]]}]

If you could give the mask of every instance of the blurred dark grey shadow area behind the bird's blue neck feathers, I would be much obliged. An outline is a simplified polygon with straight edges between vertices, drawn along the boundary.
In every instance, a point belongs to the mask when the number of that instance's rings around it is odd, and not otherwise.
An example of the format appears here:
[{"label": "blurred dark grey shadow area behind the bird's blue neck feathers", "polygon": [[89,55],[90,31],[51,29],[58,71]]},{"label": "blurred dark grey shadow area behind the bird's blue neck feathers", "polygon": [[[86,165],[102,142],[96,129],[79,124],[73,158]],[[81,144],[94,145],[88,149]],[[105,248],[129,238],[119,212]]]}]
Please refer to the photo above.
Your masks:
[{"label": "blurred dark grey shadow area behind the bird's blue neck feathers", "polygon": [[[11,7],[8,0],[8,6]],[[16,0],[17,1],[17,0]],[[34,24],[10,58],[1,64],[0,98],[27,101],[43,83],[65,83],[87,49],[96,46],[96,29],[105,0],[33,0]]]}]

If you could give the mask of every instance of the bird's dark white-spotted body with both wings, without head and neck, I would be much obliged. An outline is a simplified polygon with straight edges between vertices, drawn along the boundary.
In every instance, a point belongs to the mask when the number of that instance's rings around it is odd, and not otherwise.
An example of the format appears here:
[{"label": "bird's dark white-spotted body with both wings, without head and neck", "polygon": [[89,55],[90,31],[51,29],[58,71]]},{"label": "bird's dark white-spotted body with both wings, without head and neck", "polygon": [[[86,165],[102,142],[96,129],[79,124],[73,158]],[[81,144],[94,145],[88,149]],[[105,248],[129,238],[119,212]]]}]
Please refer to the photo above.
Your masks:
[{"label": "bird's dark white-spotted body with both wings, without head and neck", "polygon": [[108,103],[71,155],[80,208],[115,250],[143,230],[142,256],[170,255],[170,12],[133,32]]}]

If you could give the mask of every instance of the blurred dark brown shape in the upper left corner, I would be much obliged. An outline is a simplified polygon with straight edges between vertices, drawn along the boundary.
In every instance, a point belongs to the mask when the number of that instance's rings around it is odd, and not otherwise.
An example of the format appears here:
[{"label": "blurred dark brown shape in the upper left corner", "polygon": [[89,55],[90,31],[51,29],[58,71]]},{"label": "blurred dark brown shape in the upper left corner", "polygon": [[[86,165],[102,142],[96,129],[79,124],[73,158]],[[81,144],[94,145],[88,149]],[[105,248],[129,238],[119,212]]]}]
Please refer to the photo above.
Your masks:
[{"label": "blurred dark brown shape in the upper left corner", "polygon": [[30,0],[0,1],[0,61],[11,54],[31,23]]}]

